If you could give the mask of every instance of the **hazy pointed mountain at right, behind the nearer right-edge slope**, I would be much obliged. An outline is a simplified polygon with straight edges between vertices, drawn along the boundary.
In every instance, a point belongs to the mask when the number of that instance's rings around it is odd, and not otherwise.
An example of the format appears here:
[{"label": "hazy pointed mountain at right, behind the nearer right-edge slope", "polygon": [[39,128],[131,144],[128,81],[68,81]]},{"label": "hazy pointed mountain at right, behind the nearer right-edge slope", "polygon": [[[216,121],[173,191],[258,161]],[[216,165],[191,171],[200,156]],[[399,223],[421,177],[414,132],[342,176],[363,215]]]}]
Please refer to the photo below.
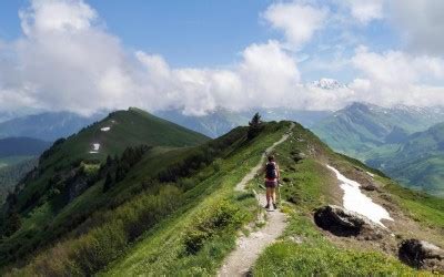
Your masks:
[{"label": "hazy pointed mountain at right, behind the nearer right-edge slope", "polygon": [[444,122],[444,109],[353,103],[312,130],[333,150],[365,161],[394,152],[410,134]]}]

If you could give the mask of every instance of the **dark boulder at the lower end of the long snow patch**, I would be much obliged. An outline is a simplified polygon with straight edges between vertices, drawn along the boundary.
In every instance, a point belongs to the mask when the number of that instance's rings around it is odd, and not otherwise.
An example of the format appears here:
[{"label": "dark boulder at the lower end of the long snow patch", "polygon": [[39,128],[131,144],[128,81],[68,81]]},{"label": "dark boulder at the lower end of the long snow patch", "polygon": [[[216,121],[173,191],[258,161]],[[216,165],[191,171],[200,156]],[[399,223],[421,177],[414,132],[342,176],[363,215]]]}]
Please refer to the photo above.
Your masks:
[{"label": "dark boulder at the lower end of the long snow patch", "polygon": [[386,235],[386,230],[367,218],[334,205],[317,208],[314,213],[314,222],[319,227],[336,236],[355,236],[375,240]]}]

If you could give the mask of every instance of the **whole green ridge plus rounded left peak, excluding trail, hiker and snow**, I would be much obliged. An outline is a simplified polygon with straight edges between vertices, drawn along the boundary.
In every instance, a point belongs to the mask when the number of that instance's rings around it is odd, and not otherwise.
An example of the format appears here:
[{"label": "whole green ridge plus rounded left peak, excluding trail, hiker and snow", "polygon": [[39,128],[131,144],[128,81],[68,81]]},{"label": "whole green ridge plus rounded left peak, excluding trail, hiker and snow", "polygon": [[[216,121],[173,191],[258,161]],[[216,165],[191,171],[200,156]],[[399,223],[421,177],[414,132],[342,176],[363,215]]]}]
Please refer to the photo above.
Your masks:
[{"label": "whole green ridge plus rounded left peak, excluding trail, hiker and snow", "polygon": [[[239,233],[264,225],[254,194],[262,189],[259,178],[252,177],[245,192],[234,187],[273,144],[289,226],[261,254],[253,275],[414,274],[396,252],[411,232],[444,245],[440,199],[402,188],[334,153],[302,125],[256,121],[209,140],[130,109],[57,141],[8,196],[1,211],[0,273],[216,275]],[[387,207],[393,220],[384,224],[395,236],[375,226],[366,229],[375,233],[365,239],[356,234],[333,238],[313,223],[315,208],[344,204],[329,166],[363,184],[367,197]]]}]

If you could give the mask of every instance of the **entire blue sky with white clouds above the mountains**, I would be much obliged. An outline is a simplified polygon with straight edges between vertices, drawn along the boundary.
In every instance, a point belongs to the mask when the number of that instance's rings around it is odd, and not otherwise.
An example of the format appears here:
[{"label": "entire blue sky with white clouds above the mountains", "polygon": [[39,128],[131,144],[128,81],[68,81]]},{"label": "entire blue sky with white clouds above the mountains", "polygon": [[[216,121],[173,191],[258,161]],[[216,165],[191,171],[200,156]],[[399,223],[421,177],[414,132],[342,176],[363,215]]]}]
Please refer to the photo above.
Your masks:
[{"label": "entire blue sky with white clouds above the mountains", "polygon": [[441,0],[2,1],[0,109],[444,105],[443,13]]}]

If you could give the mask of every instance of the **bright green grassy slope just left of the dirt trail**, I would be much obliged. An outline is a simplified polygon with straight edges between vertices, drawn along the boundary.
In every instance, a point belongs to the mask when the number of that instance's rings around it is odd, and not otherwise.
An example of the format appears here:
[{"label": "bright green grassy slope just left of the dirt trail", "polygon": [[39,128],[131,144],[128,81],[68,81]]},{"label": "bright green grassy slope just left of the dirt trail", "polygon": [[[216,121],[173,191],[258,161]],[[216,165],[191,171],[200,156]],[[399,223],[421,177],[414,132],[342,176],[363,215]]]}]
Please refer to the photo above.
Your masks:
[{"label": "bright green grassy slope just left of the dirt trail", "polygon": [[[273,131],[275,126],[278,130]],[[254,219],[259,212],[252,194],[235,194],[233,187],[260,160],[264,148],[278,141],[289,124],[270,125],[252,144],[235,148],[229,157],[219,161],[220,171],[204,179],[189,193],[189,204],[172,218],[144,235],[129,253],[112,264],[104,276],[140,275],[213,275],[224,256],[235,246],[236,229]],[[195,253],[186,253],[188,242],[201,219],[214,217],[214,211],[229,205],[236,211],[230,225],[211,230]],[[218,213],[218,212],[215,212]]]}]

